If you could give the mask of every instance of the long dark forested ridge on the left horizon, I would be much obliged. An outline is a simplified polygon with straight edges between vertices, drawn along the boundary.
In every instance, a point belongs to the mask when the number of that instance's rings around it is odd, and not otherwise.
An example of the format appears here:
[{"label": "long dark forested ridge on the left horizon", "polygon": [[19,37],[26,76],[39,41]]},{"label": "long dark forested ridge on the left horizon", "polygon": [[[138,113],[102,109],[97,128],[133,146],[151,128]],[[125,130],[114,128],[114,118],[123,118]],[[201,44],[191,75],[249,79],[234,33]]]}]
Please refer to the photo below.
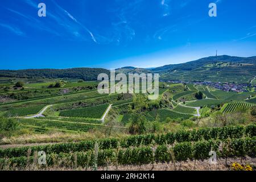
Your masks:
[{"label": "long dark forested ridge on the left horizon", "polygon": [[90,81],[97,80],[100,73],[109,75],[109,70],[102,68],[0,70],[0,77],[80,78]]}]

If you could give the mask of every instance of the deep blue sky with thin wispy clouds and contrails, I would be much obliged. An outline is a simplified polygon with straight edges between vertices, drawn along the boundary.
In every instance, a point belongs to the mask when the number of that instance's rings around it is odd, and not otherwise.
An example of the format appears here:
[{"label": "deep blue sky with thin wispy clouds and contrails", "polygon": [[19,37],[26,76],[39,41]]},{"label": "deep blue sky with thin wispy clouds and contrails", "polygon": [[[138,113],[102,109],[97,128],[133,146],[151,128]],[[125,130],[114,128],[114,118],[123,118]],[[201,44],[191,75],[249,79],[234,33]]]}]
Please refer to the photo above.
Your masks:
[{"label": "deep blue sky with thin wispy clouds and contrails", "polygon": [[216,49],[256,56],[255,0],[1,0],[0,69],[150,68]]}]

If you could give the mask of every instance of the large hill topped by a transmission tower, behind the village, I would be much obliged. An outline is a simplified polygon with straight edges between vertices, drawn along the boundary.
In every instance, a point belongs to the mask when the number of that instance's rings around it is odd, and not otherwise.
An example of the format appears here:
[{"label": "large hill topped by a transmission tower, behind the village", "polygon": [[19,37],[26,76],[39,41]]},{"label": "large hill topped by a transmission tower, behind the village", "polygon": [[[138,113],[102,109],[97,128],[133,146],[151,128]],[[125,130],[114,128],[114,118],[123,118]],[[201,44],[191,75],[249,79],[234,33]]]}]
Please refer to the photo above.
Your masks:
[{"label": "large hill topped by a transmission tower, behind the village", "polygon": [[256,56],[210,56],[151,69],[162,80],[249,83],[256,76]]}]

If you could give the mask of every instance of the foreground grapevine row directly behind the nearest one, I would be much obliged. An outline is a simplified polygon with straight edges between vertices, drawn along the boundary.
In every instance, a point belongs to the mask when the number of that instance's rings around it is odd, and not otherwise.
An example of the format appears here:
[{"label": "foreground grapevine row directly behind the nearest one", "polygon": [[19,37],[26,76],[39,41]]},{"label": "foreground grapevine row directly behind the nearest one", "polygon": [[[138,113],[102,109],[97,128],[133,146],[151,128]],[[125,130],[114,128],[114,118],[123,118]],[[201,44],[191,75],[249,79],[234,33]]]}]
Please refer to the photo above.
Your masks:
[{"label": "foreground grapevine row directly behind the nearest one", "polygon": [[45,146],[26,146],[16,148],[6,148],[0,150],[0,158],[11,158],[18,156],[27,156],[28,149],[34,151],[45,151],[47,154],[60,152],[77,152],[77,151],[89,151],[93,150],[94,144],[99,143],[100,149],[111,148],[128,148],[138,146],[154,146],[164,144],[174,144],[175,142],[196,142],[198,140],[209,139],[227,139],[227,138],[242,138],[242,137],[255,137],[256,125],[243,126],[229,126],[229,127],[214,127],[214,128],[201,128],[199,130],[185,131],[180,130],[176,133],[167,134],[148,134],[148,135],[134,135],[125,138],[106,138],[100,140],[86,140],[82,142],[70,142],[70,143],[58,143],[49,144]]}]

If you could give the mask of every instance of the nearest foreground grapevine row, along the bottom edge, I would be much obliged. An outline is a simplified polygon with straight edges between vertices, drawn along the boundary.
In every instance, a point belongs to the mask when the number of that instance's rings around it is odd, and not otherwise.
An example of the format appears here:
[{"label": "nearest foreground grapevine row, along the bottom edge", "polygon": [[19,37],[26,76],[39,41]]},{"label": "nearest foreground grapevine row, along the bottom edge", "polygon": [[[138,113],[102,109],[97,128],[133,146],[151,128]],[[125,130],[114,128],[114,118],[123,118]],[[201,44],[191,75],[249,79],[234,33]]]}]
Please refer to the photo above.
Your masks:
[{"label": "nearest foreground grapevine row, along the bottom edge", "polygon": [[[209,159],[209,151],[216,151],[218,158],[243,157],[256,155],[256,138],[238,138],[226,140],[204,140],[198,142],[181,142],[175,146],[160,145],[154,150],[150,146],[133,148],[117,148],[94,150],[88,152],[73,152],[47,154],[47,166],[62,167],[95,167],[115,165],[141,165],[171,161],[186,161]],[[220,147],[221,146],[221,149]],[[36,160],[31,157],[0,159],[0,166],[26,167]]]}]

